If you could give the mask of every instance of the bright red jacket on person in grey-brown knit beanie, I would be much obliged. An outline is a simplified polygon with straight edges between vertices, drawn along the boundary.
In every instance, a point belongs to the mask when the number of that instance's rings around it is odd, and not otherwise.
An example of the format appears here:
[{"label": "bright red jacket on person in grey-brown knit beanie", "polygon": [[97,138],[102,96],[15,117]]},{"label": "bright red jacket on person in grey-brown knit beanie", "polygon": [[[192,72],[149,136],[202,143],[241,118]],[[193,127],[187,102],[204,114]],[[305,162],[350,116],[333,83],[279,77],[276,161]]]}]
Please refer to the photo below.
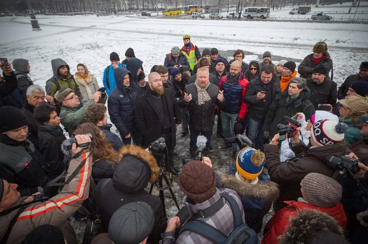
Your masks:
[{"label": "bright red jacket on person in grey-brown knit beanie", "polygon": [[316,205],[312,205],[304,202],[297,201],[284,201],[288,204],[286,207],[280,209],[266,224],[263,231],[262,244],[277,244],[279,243],[279,237],[282,235],[287,226],[289,226],[289,218],[297,215],[297,211],[300,209],[316,209],[321,212],[325,212],[336,219],[336,223],[343,228],[346,228],[347,219],[343,209],[343,205],[339,202],[333,207],[322,208]]}]

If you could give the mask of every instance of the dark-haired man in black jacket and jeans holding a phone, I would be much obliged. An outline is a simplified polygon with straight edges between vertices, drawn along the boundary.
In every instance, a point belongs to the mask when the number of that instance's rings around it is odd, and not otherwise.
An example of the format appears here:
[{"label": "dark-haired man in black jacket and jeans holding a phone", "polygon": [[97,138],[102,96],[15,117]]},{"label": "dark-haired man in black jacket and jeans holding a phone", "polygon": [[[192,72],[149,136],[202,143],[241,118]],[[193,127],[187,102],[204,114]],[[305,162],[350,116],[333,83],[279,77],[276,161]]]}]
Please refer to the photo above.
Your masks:
[{"label": "dark-haired man in black jacket and jeans holding a phone", "polygon": [[266,114],[276,95],[281,92],[280,79],[273,74],[273,71],[272,65],[264,65],[261,69],[261,75],[248,84],[244,96],[244,102],[249,104],[247,111],[248,138],[254,144],[254,148],[262,152],[264,152],[263,124]]}]

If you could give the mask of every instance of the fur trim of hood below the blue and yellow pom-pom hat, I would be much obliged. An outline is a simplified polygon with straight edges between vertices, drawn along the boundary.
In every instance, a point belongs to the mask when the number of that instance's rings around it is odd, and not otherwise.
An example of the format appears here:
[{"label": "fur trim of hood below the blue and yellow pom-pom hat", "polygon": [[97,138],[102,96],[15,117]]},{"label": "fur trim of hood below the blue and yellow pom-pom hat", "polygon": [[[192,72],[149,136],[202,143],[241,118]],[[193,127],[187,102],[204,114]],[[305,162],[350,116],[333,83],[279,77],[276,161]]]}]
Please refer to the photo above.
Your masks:
[{"label": "fur trim of hood below the blue and yellow pom-pom hat", "polygon": [[240,197],[249,197],[264,201],[273,201],[279,197],[279,188],[275,182],[258,182],[250,184],[238,180],[233,175],[223,173],[219,176],[219,188],[236,191]]}]

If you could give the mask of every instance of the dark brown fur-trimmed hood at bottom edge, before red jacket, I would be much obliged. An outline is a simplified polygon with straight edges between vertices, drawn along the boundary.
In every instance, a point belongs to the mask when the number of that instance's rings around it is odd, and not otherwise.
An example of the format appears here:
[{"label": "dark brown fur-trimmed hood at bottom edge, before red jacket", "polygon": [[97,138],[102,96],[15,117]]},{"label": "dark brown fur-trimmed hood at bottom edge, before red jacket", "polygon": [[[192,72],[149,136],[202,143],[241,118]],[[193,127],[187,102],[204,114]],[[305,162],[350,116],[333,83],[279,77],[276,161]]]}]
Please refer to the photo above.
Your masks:
[{"label": "dark brown fur-trimmed hood at bottom edge, before red jacket", "polygon": [[[344,229],[336,223],[335,218],[314,209],[301,210],[297,215],[289,218],[289,226],[279,236],[279,244],[309,243],[313,237],[318,236],[318,233],[321,232],[333,232],[341,237],[341,240],[344,240]],[[321,243],[324,242],[321,241]],[[349,242],[339,241],[336,244],[340,243]]]}]

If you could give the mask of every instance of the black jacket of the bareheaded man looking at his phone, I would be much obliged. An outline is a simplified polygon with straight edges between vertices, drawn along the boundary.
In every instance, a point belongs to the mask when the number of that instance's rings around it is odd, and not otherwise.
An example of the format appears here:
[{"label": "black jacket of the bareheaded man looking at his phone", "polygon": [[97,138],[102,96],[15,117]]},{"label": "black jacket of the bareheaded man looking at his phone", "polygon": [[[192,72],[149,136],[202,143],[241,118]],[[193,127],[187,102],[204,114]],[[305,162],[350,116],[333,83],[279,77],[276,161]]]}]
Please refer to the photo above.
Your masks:
[{"label": "black jacket of the bareheaded man looking at his phone", "polygon": [[[248,117],[255,121],[265,121],[270,105],[273,100],[275,100],[276,95],[281,92],[280,79],[276,75],[272,76],[270,82],[272,83],[271,90],[262,82],[261,76],[252,80],[247,86],[244,102],[249,104],[247,112]],[[262,100],[258,101],[257,93],[259,92],[266,92],[266,96]]]}]

